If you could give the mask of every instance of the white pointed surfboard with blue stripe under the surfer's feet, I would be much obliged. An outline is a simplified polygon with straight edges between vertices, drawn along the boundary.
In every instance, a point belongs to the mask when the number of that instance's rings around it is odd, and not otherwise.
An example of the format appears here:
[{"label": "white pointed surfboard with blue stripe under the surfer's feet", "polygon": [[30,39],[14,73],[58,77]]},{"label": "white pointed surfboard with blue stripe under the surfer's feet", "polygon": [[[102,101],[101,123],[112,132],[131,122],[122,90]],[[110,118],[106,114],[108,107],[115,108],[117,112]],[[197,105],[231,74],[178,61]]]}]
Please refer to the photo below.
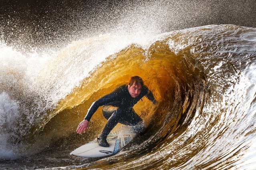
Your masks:
[{"label": "white pointed surfboard with blue stripe under the surfer's feet", "polygon": [[133,139],[134,136],[135,132],[130,132],[126,130],[125,132],[123,131],[119,134],[117,134],[117,132],[112,132],[107,138],[109,147],[99,146],[97,139],[95,139],[73,150],[70,154],[86,158],[100,158],[110,156],[119,152],[123,148],[123,146],[125,146]]}]

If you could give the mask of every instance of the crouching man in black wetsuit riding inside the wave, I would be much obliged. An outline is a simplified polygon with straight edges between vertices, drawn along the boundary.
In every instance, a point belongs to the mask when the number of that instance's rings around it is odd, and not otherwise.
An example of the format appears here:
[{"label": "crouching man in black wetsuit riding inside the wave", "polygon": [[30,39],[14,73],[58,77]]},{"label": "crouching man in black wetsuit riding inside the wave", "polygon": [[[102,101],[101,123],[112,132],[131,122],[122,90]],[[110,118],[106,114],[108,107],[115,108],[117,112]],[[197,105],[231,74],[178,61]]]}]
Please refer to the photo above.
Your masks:
[{"label": "crouching man in black wetsuit riding inside the wave", "polygon": [[[100,106],[103,106],[103,116],[108,120],[103,131],[97,138],[100,146],[109,147],[107,142],[107,135],[111,130],[121,123],[129,126],[136,126],[137,133],[145,130],[145,124],[137,113],[135,113],[133,106],[143,97],[147,97],[153,104],[157,101],[153,93],[144,85],[143,80],[139,76],[131,77],[127,85],[117,87],[113,92],[109,93],[93,102],[89,108],[85,119],[79,123],[77,133],[82,134],[85,132],[89,125],[89,121],[93,114]],[[142,99],[141,99],[142,100]]]}]

